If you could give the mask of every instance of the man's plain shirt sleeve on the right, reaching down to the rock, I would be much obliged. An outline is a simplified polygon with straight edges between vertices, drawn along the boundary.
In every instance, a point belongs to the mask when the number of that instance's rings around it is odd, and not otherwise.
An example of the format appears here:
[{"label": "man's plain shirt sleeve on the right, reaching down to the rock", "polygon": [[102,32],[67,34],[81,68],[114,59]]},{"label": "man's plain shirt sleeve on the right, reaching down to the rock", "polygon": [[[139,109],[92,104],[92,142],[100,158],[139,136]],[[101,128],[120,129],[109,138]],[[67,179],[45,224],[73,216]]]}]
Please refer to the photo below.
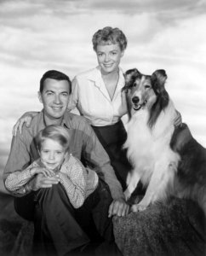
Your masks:
[{"label": "man's plain shirt sleeve on the right, reaching down to the rock", "polygon": [[123,188],[117,180],[106,150],[103,148],[92,127],[85,119],[82,125],[83,132],[87,134],[87,136],[83,137],[83,156],[84,159],[87,160],[87,165],[106,181],[114,200],[120,198],[124,199]]}]

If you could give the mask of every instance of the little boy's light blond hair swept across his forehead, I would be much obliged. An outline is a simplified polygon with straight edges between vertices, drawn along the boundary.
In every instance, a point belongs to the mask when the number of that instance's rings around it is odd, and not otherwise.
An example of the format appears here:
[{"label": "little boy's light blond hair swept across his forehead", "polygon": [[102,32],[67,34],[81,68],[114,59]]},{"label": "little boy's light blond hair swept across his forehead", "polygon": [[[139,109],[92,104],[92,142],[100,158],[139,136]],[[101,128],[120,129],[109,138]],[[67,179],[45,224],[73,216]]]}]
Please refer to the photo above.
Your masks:
[{"label": "little boy's light blond hair swept across his forehead", "polygon": [[41,150],[43,141],[47,138],[60,143],[60,145],[67,150],[69,148],[71,135],[63,126],[49,125],[37,134],[36,143],[38,150]]}]

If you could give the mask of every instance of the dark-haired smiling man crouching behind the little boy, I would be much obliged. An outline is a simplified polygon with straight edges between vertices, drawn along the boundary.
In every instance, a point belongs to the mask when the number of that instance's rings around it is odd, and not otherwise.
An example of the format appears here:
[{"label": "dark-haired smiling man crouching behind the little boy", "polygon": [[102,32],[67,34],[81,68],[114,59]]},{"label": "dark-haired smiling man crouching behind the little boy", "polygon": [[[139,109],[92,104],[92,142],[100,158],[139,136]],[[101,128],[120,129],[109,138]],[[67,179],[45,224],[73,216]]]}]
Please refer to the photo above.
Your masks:
[{"label": "dark-haired smiling man crouching behind the little boy", "polygon": [[[30,127],[24,126],[22,133],[13,137],[3,180],[5,181],[9,173],[20,172],[33,160],[37,160],[39,155],[35,137],[38,131],[47,125],[63,125],[72,130],[70,153],[94,169],[109,186],[113,201],[108,217],[124,216],[129,212],[129,206],[124,201],[122,187],[117,181],[108,155],[86,119],[66,111],[70,93],[71,81],[64,73],[51,70],[43,74],[38,93],[43,110],[31,120]],[[21,217],[34,221],[35,237],[41,237],[40,245],[43,245],[47,253],[65,255],[89,243],[89,237],[78,223],[82,221],[79,218],[81,210],[76,212],[71,207],[64,189],[60,186],[59,177],[37,174],[13,195],[16,212]],[[88,202],[87,207],[90,203]],[[99,212],[103,213],[104,209],[99,209]],[[111,226],[112,222],[108,225]]]}]

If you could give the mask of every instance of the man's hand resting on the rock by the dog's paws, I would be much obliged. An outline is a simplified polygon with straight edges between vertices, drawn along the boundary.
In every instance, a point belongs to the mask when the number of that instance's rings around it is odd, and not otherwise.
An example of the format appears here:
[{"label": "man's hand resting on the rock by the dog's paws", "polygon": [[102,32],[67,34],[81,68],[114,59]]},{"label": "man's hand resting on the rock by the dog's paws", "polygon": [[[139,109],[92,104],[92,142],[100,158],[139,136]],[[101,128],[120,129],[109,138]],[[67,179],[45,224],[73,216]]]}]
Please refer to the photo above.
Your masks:
[{"label": "man's hand resting on the rock by the dog's paws", "polygon": [[114,200],[112,201],[112,204],[109,207],[109,214],[108,217],[112,216],[125,216],[129,213],[129,205],[123,200]]}]

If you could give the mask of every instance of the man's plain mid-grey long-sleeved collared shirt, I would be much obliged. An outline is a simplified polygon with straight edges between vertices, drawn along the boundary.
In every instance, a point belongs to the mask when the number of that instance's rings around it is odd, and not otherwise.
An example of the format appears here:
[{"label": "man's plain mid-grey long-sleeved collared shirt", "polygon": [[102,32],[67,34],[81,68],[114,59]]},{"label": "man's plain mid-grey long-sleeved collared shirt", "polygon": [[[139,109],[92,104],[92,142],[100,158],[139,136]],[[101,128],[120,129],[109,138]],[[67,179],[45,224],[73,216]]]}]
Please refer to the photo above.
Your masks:
[{"label": "man's plain mid-grey long-sleeved collared shirt", "polygon": [[[123,189],[110,164],[109,156],[87,120],[76,114],[66,112],[61,125],[72,131],[69,153],[77,157],[78,160],[82,160],[84,166],[94,170],[99,177],[106,181],[113,199],[124,198]],[[22,133],[18,132],[13,137],[9,159],[3,172],[4,182],[10,173],[26,169],[34,160],[39,158],[35,137],[45,127],[42,111],[31,120],[30,127],[24,125]],[[15,196],[17,195],[15,194]]]}]

